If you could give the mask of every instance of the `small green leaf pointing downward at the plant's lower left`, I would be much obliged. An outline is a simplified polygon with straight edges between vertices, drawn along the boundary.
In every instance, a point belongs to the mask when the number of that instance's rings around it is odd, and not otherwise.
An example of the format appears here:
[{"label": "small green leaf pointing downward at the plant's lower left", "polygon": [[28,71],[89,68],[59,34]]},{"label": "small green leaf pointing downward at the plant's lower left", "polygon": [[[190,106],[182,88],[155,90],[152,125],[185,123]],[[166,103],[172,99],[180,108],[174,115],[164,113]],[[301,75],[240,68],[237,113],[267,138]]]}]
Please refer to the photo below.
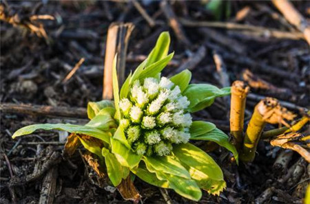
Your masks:
[{"label": "small green leaf pointing downward at the plant's lower left", "polygon": [[116,157],[107,149],[102,148],[102,155],[105,157],[105,166],[107,166],[107,175],[114,186],[121,183],[122,179],[126,179],[130,170],[121,165]]}]

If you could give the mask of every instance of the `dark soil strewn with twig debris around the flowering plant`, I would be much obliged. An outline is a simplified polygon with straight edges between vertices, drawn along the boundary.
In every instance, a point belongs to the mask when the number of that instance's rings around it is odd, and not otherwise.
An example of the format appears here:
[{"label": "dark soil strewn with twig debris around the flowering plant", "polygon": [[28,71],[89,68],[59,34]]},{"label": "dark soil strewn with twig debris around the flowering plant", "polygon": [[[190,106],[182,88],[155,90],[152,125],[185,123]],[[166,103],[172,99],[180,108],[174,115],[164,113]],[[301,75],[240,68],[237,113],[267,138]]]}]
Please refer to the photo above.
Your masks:
[{"label": "dark soil strewn with twig debris around the flowering plant", "polygon": [[[242,71],[249,69],[254,76],[273,85],[268,88],[255,87],[255,84],[249,82],[251,97],[247,100],[246,124],[260,96],[271,96],[288,102],[288,109],[299,117],[304,113],[302,108],[309,109],[310,50],[307,42],[302,39],[276,38],[267,32],[258,34],[256,31],[183,26],[189,41],[186,43],[180,41],[169,27],[158,1],[145,1],[146,4],[139,1],[156,21],[154,27],[149,26],[132,3],[96,0],[44,2],[1,2],[6,5],[8,14],[19,16],[21,23],[27,22],[32,14],[50,14],[55,17],[54,21],[39,21],[44,25],[48,40],[31,33],[25,27],[1,21],[1,103],[86,107],[89,101],[101,100],[107,28],[112,22],[125,21],[135,25],[128,47],[127,72],[134,69],[149,53],[160,32],[168,30],[172,36],[170,49],[174,50],[175,57],[165,74],[174,73],[187,60],[201,54],[204,47],[206,52],[198,64],[187,67],[192,69],[193,83],[223,86],[213,59],[216,52],[226,65],[229,84],[244,79]],[[206,10],[203,1],[170,3],[178,17],[192,21],[216,20],[214,14]],[[310,1],[293,3],[309,21]],[[231,14],[225,16],[223,8],[218,21],[267,27],[282,32],[297,31],[268,1],[230,1],[229,5]],[[242,18],[237,17],[238,12],[246,8],[249,8],[249,12]],[[85,62],[81,68],[68,82],[63,83],[70,69],[82,57]],[[214,122],[223,131],[229,131],[229,104],[225,98],[216,100],[211,107],[196,113],[194,117]],[[61,153],[63,149],[58,132],[39,131],[20,139],[11,138],[14,131],[28,124],[83,124],[85,121],[1,113],[0,203],[38,203],[43,177],[53,167],[58,174],[54,203],[130,203],[123,201],[114,188],[99,188],[94,181],[94,172],[87,170],[79,152],[70,160],[53,155],[54,152]],[[277,127],[268,125],[266,129]],[[309,128],[304,131],[309,135]],[[204,142],[198,142],[197,145],[206,148]],[[231,155],[224,149],[209,152],[223,168],[227,188],[220,196],[204,193],[199,203],[259,203],[265,194],[267,199],[263,203],[302,203],[305,187],[309,183],[309,164],[293,152],[284,169],[275,167],[273,163],[284,151],[261,141],[255,161],[240,163],[240,166],[231,161]],[[80,152],[85,150],[81,149]],[[9,185],[29,177],[52,157],[57,158],[41,177],[14,187]],[[134,183],[143,196],[143,203],[165,203],[158,188],[138,179]],[[268,194],[268,191],[271,193]],[[168,192],[174,203],[192,203],[172,190]]]}]

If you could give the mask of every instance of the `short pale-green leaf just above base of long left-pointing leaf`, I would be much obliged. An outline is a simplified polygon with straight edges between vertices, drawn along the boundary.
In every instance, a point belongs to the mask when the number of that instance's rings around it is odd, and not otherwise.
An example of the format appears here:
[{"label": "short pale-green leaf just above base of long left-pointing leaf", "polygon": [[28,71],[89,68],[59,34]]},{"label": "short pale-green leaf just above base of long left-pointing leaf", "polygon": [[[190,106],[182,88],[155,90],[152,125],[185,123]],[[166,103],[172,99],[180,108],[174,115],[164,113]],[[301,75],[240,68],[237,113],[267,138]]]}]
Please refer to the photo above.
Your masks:
[{"label": "short pale-green leaf just above base of long left-pointing leaf", "polygon": [[[100,112],[99,112],[100,113]],[[117,125],[111,115],[96,115],[87,124],[87,127],[97,128],[101,131],[111,131],[112,128],[116,128]]]}]

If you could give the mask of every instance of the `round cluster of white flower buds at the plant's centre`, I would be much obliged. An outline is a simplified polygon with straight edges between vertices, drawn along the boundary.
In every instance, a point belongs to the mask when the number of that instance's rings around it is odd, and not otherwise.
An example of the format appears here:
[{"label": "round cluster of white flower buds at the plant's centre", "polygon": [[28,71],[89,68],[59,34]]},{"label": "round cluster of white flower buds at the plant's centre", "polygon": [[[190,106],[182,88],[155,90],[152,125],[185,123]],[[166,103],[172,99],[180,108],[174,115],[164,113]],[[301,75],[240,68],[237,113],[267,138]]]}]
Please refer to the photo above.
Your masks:
[{"label": "round cluster of white flower buds at the plant's centre", "polygon": [[169,155],[173,144],[189,141],[192,116],[186,113],[189,100],[180,88],[162,77],[136,80],[129,98],[119,102],[121,126],[138,155]]}]

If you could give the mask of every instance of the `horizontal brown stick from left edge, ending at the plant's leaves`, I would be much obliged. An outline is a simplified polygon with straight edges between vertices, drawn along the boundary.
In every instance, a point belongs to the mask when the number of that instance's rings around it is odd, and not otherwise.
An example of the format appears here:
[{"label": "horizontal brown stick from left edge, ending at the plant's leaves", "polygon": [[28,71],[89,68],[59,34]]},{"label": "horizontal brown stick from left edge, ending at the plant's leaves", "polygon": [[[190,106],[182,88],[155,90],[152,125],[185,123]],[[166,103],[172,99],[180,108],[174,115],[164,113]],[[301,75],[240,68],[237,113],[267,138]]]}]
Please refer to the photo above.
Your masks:
[{"label": "horizontal brown stick from left edge, ending at the plant's leaves", "polygon": [[0,104],[0,111],[3,111],[3,113],[20,113],[25,115],[87,118],[87,110],[85,108],[71,108],[65,106],[54,107],[3,103]]}]

